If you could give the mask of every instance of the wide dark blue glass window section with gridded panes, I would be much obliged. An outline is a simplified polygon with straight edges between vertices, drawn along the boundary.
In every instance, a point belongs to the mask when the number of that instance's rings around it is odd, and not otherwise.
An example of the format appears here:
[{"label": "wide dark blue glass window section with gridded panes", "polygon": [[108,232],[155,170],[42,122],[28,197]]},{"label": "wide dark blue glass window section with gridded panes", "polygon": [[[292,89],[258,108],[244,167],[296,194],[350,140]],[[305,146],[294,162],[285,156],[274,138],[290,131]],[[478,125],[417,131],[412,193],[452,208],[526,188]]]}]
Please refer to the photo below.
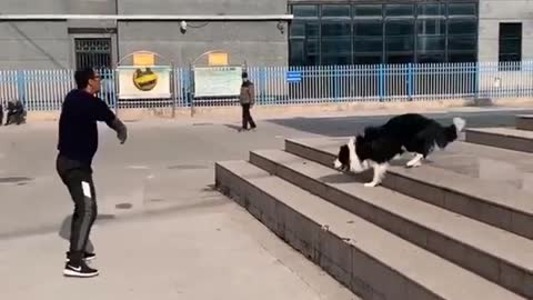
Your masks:
[{"label": "wide dark blue glass window section with gridded panes", "polygon": [[477,53],[476,1],[291,6],[294,64],[470,62]]}]

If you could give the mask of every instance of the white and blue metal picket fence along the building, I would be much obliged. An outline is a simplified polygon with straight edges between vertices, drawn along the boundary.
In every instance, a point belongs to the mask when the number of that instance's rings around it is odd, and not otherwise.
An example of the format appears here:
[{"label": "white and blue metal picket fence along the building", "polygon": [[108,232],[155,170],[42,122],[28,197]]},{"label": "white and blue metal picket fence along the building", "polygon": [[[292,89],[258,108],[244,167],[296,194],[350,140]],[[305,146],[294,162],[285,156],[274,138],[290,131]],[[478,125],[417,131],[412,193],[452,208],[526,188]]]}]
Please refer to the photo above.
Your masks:
[{"label": "white and blue metal picket fence along the building", "polygon": [[[248,67],[258,106],[362,101],[430,101],[533,97],[533,61]],[[174,69],[172,99],[118,100],[114,70],[100,70],[100,97],[111,108],[237,106],[234,98],[195,99],[189,69]],[[73,70],[0,70],[0,101],[21,100],[29,111],[59,110],[74,87]]]}]

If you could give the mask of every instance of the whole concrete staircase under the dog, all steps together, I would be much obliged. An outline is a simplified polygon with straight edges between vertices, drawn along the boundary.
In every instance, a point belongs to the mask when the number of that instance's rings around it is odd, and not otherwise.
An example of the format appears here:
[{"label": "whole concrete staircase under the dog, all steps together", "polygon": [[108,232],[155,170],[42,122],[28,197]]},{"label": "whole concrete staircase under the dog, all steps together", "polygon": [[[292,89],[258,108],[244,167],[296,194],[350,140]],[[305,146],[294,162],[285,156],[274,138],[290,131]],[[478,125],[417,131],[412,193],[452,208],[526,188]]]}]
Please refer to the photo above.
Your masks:
[{"label": "whole concrete staircase under the dog, all steps together", "polygon": [[365,188],[332,169],[346,141],[218,162],[217,187],[362,299],[533,299],[533,154],[457,141]]}]

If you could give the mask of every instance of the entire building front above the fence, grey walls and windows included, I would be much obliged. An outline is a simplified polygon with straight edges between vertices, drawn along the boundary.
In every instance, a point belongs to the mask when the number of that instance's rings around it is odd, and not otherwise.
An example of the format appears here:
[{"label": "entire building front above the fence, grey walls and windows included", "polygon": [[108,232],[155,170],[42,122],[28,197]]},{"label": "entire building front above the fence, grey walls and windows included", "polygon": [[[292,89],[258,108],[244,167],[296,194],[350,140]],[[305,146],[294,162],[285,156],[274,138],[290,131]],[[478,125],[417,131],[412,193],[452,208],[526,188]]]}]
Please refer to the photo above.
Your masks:
[{"label": "entire building front above the fence, grey walls and windows included", "polygon": [[[187,67],[210,50],[231,63],[331,66],[530,60],[527,0],[3,0],[2,14],[292,14],[290,22],[0,21],[0,69],[114,67],[154,51]],[[1,17],[1,16],[0,16]]]}]

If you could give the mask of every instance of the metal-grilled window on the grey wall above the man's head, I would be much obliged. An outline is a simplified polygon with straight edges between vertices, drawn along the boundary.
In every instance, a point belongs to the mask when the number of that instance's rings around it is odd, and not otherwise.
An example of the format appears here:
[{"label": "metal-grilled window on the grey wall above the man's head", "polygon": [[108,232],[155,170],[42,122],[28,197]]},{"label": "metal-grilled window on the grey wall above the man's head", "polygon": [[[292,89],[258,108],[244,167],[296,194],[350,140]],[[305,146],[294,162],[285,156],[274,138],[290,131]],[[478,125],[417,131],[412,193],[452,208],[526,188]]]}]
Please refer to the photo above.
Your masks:
[{"label": "metal-grilled window on the grey wall above the man's head", "polygon": [[111,39],[74,39],[74,43],[78,69],[111,67]]}]

